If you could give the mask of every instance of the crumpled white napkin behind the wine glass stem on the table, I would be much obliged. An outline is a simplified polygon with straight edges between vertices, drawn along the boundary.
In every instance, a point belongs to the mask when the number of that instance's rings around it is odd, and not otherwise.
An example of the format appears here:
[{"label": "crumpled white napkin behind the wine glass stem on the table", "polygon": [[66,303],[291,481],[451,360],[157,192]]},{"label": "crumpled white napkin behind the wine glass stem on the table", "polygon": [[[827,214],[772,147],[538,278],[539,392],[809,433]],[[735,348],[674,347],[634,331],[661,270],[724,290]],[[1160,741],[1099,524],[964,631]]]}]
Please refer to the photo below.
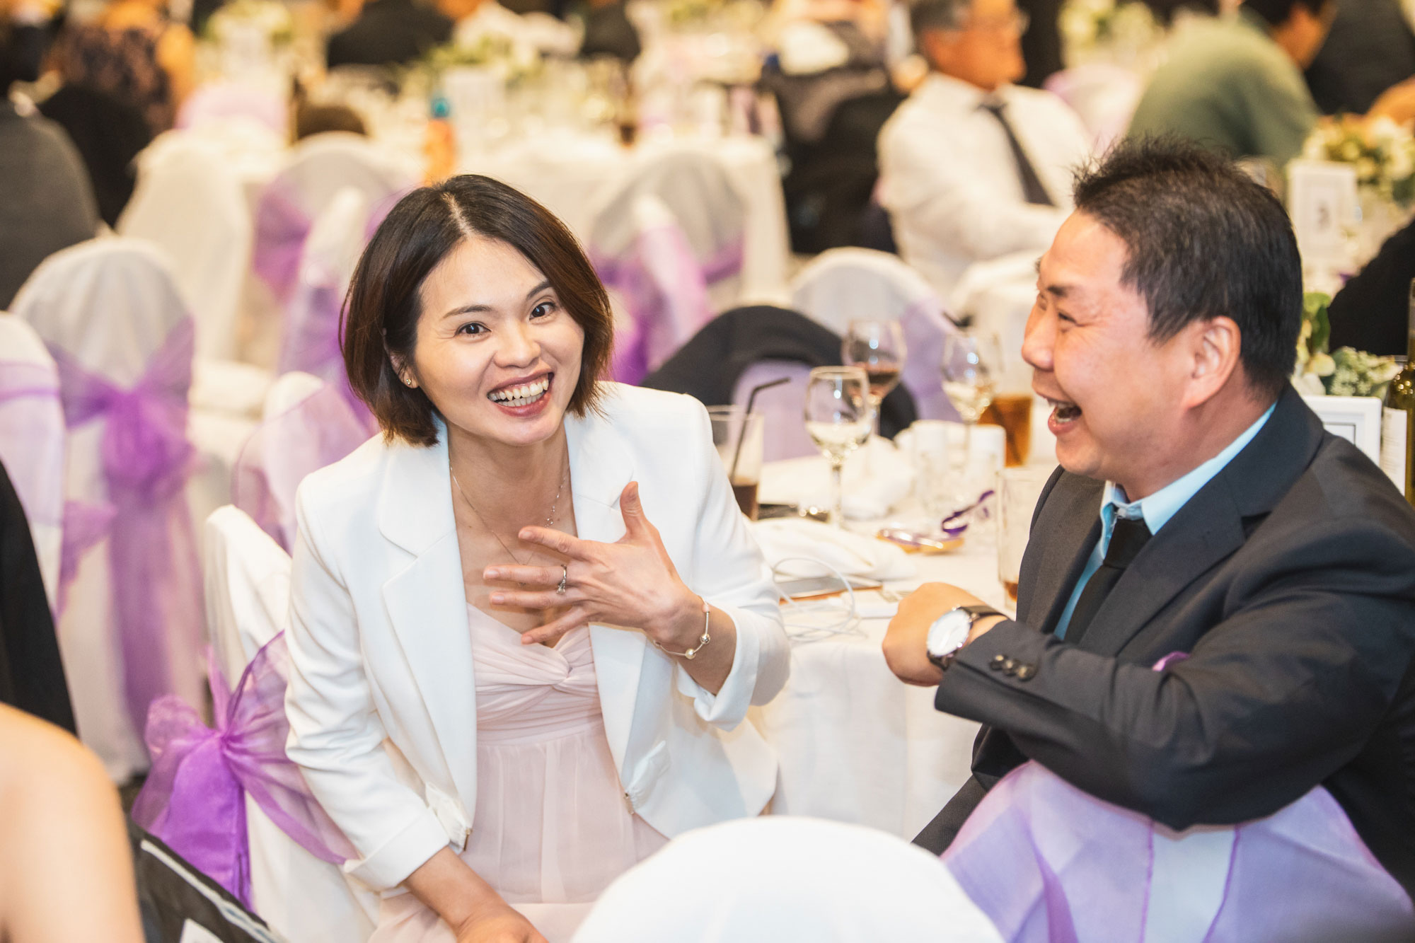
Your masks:
[{"label": "crumpled white napkin behind the wine glass stem on the table", "polygon": [[[914,467],[889,439],[870,436],[845,460],[845,517],[873,521],[886,517],[914,490]],[[761,469],[758,498],[766,504],[831,507],[831,466],[824,457],[770,462]]]}]

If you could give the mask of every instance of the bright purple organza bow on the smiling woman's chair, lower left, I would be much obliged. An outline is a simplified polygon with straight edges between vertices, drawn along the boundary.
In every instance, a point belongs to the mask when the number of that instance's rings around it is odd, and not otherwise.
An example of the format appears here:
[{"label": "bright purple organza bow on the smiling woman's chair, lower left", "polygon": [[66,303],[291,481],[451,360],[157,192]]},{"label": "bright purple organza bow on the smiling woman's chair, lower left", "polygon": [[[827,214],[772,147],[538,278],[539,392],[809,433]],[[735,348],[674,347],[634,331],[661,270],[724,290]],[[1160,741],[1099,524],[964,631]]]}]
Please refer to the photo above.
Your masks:
[{"label": "bright purple organza bow on the smiling woman's chair, lower left", "polygon": [[153,769],[133,803],[133,821],[250,908],[246,796],[316,858],[342,865],[355,852],[284,755],[284,633],[262,646],[231,694],[215,657],[208,661],[216,729],[177,695],[153,702]]}]

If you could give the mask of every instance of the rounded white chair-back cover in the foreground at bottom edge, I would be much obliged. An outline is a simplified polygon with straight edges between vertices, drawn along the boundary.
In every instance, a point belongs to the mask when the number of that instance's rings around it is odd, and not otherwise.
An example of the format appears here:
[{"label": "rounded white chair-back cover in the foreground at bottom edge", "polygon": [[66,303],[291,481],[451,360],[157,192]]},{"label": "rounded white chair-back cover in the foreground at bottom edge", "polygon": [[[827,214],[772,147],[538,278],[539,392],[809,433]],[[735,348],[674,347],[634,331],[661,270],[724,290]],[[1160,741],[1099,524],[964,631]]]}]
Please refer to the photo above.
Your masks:
[{"label": "rounded white chair-back cover in the foreground at bottom edge", "polygon": [[574,935],[574,943],[781,940],[1002,936],[937,855],[865,825],[791,816],[679,835],[611,884]]}]

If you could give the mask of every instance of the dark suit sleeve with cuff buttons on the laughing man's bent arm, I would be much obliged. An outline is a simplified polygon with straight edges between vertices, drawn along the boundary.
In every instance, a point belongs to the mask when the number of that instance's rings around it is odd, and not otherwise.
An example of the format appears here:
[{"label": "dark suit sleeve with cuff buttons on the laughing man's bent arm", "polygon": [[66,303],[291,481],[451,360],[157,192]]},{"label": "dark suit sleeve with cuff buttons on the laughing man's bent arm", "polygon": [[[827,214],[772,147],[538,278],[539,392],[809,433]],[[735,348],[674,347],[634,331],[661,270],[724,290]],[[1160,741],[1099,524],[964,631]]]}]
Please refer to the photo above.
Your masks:
[{"label": "dark suit sleeve with cuff buttons on the laughing man's bent arm", "polygon": [[[959,653],[935,707],[1172,828],[1269,816],[1387,714],[1415,656],[1415,552],[1374,522],[1329,521],[1244,582],[1163,671],[1003,622]],[[1002,658],[1033,671],[1009,677]]]}]

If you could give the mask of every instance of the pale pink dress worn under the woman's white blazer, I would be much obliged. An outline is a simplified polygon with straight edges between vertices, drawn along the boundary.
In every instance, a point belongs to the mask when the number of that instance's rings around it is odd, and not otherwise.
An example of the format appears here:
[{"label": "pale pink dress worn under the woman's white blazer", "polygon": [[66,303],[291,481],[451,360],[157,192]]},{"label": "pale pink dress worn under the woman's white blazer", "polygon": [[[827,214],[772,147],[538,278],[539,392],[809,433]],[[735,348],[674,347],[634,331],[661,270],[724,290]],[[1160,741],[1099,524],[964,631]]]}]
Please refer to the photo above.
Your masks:
[{"label": "pale pink dress worn under the woman's white blazer", "polygon": [[[477,684],[473,871],[550,943],[569,940],[590,905],[668,840],[624,800],[604,736],[589,629],[553,647],[467,606]],[[453,943],[413,895],[383,901],[369,943]]]}]

